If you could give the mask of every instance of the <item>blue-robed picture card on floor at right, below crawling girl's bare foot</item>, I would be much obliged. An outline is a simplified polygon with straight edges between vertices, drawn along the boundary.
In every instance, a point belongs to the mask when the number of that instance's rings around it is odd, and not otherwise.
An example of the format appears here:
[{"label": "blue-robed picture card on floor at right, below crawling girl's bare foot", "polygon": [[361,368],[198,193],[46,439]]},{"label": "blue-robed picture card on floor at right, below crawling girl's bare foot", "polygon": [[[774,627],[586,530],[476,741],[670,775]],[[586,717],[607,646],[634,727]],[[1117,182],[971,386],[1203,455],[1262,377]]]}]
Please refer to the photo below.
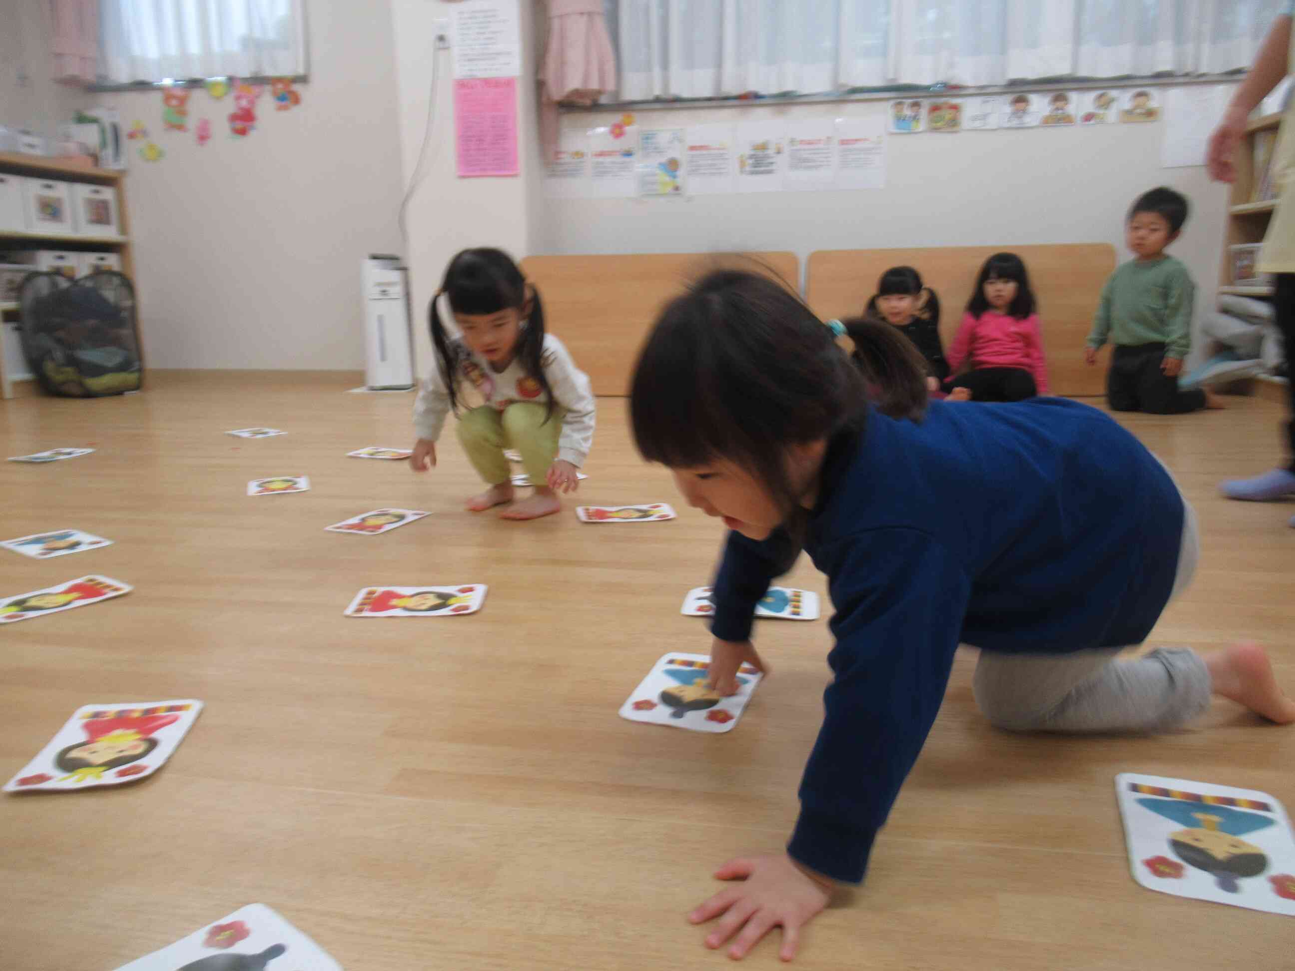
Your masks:
[{"label": "blue-robed picture card on floor at right, below crawling girl's bare foot", "polygon": [[1121,773],[1133,879],[1147,889],[1295,917],[1295,840],[1267,792]]}]

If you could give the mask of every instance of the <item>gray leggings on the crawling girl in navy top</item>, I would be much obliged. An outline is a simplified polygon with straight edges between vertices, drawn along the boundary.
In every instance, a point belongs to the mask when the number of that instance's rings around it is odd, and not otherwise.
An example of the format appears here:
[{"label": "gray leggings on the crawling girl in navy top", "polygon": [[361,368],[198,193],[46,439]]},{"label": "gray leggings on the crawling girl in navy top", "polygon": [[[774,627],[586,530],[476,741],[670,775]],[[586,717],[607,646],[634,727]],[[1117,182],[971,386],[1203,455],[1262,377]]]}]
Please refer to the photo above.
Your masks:
[{"label": "gray leggings on the crawling girl in navy top", "polygon": [[[1186,589],[1200,558],[1197,514],[1182,500],[1182,545],[1169,602]],[[1116,660],[1123,647],[1075,654],[980,651],[975,699],[991,722],[1011,731],[1155,731],[1177,728],[1210,706],[1210,672],[1186,649],[1156,649]]]}]

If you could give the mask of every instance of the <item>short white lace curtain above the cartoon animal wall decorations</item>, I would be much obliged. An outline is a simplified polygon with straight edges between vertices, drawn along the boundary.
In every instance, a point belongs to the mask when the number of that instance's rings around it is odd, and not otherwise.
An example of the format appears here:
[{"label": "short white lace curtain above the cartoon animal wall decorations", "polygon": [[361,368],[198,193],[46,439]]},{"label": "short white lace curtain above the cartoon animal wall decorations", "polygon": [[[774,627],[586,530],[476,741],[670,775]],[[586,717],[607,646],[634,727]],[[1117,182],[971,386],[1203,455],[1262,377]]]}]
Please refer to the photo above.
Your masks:
[{"label": "short white lace curtain above the cartoon animal wall decorations", "polygon": [[168,78],[307,73],[303,0],[100,0],[100,74]]}]

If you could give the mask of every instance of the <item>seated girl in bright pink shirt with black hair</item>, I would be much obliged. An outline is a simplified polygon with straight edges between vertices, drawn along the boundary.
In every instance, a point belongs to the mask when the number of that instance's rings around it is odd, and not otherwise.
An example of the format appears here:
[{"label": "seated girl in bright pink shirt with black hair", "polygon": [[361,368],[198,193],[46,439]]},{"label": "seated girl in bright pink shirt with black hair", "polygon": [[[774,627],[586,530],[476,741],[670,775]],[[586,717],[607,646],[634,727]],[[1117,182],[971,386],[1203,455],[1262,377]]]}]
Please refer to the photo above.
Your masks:
[{"label": "seated girl in bright pink shirt with black hair", "polygon": [[1048,394],[1044,342],[1026,264],[1014,252],[984,262],[949,347],[951,400],[1022,401]]}]

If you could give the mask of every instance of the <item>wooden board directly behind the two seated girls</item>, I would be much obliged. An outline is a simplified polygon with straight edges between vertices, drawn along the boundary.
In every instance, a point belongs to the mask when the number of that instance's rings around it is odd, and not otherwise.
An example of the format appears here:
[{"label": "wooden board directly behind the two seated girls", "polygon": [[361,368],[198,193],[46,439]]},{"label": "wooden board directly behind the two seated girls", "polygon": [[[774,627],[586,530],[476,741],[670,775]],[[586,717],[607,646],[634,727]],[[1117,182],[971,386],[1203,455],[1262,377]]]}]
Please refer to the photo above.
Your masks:
[{"label": "wooden board directly behind the two seated girls", "polygon": [[982,264],[1005,250],[1020,256],[1030,272],[1052,394],[1105,394],[1110,350],[1090,366],[1084,363],[1084,339],[1093,326],[1102,285],[1115,269],[1115,247],[1110,243],[818,250],[809,254],[807,299],[825,320],[857,316],[877,291],[882,273],[891,267],[914,267],[940,298],[940,335],[948,350]]}]

